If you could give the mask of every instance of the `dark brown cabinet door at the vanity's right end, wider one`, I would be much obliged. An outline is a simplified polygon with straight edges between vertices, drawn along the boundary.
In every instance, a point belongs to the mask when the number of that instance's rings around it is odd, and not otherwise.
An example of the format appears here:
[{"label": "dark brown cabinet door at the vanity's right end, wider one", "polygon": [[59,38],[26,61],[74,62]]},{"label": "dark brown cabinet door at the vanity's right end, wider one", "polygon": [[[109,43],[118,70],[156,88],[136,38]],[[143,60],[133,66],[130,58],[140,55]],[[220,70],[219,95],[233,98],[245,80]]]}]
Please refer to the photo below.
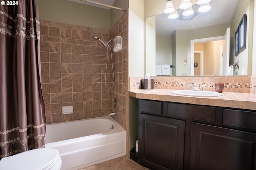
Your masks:
[{"label": "dark brown cabinet door at the vanity's right end, wider one", "polygon": [[255,170],[256,134],[192,123],[190,170]]}]

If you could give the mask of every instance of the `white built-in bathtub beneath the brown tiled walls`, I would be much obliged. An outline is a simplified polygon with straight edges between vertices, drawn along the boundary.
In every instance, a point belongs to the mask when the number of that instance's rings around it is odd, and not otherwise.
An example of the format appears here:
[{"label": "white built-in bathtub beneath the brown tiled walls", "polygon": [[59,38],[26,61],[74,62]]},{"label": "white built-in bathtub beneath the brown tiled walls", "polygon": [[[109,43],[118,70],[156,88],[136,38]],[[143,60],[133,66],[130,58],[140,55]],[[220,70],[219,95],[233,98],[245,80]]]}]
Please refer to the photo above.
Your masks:
[{"label": "white built-in bathtub beneath the brown tiled walls", "polygon": [[110,116],[46,125],[45,143],[60,152],[62,170],[126,155],[126,132]]}]

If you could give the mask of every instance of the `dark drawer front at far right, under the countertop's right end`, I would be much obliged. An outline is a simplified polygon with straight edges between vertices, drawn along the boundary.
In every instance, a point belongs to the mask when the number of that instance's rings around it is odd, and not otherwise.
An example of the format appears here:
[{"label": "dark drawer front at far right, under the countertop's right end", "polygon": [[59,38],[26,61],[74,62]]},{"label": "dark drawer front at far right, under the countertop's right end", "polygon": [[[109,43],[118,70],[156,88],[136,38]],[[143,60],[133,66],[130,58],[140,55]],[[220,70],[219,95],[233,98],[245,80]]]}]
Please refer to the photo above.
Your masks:
[{"label": "dark drawer front at far right, under the countertop's right end", "polygon": [[256,130],[256,112],[223,109],[223,125]]}]

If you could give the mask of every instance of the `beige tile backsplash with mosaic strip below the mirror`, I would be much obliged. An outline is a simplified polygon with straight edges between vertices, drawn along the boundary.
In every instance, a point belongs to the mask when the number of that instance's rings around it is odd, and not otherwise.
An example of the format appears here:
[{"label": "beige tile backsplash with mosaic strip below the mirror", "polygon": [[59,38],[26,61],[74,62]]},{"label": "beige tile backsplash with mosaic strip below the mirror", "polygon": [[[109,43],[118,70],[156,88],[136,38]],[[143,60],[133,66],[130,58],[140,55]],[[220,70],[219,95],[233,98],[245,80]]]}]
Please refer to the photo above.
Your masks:
[{"label": "beige tile backsplash with mosaic strip below the mirror", "polygon": [[[140,79],[143,77],[130,77],[130,90],[140,89]],[[256,78],[250,76],[233,77],[151,77],[154,78],[155,89],[189,89],[187,84],[197,83],[205,85],[204,90],[214,91],[215,83],[224,83],[224,92],[253,93],[256,88]],[[255,80],[254,80],[255,79]],[[253,81],[254,80],[254,81]],[[254,82],[254,83],[253,83]]]}]

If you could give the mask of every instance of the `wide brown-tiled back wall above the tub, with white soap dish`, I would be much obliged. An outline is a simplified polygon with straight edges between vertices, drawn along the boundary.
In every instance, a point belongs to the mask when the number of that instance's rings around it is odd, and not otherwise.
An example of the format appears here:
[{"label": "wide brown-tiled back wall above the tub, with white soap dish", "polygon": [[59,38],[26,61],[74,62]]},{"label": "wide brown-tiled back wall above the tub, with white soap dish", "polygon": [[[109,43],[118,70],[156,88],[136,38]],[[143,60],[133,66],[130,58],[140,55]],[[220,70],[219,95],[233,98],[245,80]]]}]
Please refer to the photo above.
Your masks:
[{"label": "wide brown-tiled back wall above the tub, with white soap dish", "polygon": [[[106,116],[110,91],[104,87],[109,30],[40,21],[42,90],[46,123]],[[62,115],[62,106],[74,113]]]}]

